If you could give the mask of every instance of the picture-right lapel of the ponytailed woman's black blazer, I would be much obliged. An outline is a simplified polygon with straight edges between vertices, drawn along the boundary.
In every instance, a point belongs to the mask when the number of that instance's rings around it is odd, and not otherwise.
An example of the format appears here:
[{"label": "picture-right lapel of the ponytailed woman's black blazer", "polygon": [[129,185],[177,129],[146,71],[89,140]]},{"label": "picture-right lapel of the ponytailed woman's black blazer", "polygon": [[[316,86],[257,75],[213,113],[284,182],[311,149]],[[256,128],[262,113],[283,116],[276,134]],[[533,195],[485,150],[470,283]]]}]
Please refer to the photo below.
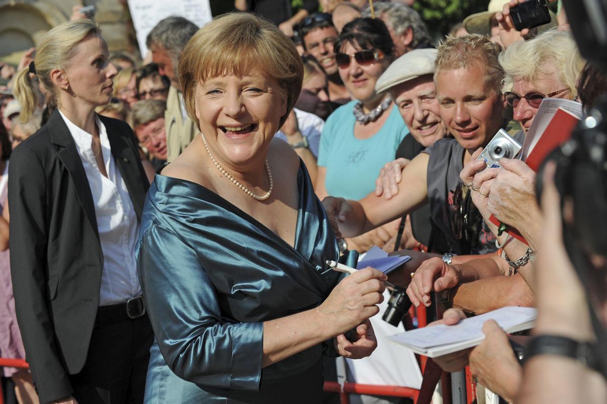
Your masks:
[{"label": "picture-right lapel of the ponytailed woman's black blazer", "polygon": [[110,142],[114,163],[120,171],[126,189],[129,191],[129,197],[131,197],[137,218],[141,221],[143,202],[148,192],[146,187],[148,180],[145,176],[141,176],[140,157],[135,154],[134,145],[129,144],[128,139],[132,135],[125,131],[126,128],[118,126],[112,120],[104,119],[102,116],[100,118],[106,126],[107,139]]}]

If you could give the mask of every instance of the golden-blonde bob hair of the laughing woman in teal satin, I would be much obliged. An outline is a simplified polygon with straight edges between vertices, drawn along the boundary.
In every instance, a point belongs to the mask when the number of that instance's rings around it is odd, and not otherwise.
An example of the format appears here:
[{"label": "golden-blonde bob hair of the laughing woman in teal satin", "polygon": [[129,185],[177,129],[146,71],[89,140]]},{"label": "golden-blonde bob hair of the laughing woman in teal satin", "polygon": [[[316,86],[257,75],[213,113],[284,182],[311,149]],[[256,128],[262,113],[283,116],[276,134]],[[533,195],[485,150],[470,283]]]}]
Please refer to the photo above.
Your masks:
[{"label": "golden-blonde bob hair of the laughing woman in teal satin", "polygon": [[179,60],[179,82],[189,117],[195,114],[198,83],[219,76],[246,75],[259,70],[276,79],[287,101],[287,116],[302,87],[303,67],[297,49],[276,25],[251,13],[228,13],[215,18],[192,36]]}]

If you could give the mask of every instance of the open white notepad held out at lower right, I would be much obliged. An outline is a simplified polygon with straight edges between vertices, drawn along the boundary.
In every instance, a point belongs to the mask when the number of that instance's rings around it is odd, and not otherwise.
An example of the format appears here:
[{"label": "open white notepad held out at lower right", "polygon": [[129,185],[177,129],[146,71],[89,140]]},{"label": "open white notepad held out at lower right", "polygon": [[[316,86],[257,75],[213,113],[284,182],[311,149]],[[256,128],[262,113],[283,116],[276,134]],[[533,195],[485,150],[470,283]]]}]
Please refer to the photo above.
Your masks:
[{"label": "open white notepad held out at lower right", "polygon": [[413,329],[392,335],[392,342],[401,344],[417,354],[430,358],[461,351],[483,342],[483,324],[495,320],[504,331],[517,332],[534,326],[537,310],[529,307],[509,306],[465,318],[453,326],[437,325]]}]

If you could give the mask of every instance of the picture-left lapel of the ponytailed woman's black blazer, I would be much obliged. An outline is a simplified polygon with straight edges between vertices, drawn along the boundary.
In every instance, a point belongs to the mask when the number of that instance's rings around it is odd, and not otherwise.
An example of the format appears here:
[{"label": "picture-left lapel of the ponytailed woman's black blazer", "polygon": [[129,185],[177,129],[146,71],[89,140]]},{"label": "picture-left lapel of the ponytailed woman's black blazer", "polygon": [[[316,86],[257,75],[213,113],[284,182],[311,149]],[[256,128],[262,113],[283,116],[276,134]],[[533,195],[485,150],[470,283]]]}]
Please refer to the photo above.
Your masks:
[{"label": "picture-left lapel of the ponytailed woman's black blazer", "polygon": [[72,177],[78,200],[80,200],[80,204],[82,204],[82,208],[84,209],[84,214],[86,214],[90,226],[93,227],[95,235],[99,238],[95,205],[93,204],[93,196],[90,193],[89,180],[86,178],[82,160],[80,160],[80,155],[78,155],[78,150],[76,150],[76,143],[69,129],[67,129],[63,118],[59,115],[59,110],[55,110],[49,117],[47,129],[50,133],[51,143],[58,146],[57,157],[70,173],[70,177]]}]

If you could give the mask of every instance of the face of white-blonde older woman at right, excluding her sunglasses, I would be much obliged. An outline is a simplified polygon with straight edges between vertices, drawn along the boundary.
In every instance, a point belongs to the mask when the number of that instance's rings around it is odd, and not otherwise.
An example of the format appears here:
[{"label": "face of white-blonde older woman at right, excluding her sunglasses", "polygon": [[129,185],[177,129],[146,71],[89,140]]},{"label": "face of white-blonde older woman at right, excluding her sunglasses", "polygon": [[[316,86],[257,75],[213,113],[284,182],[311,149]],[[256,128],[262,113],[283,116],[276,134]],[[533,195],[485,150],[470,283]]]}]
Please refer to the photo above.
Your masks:
[{"label": "face of white-blonde older woman at right, excluding her sunglasses", "polygon": [[[536,82],[531,82],[521,78],[514,78],[512,81],[512,92],[521,96],[521,100],[513,108],[513,118],[521,124],[525,133],[531,127],[534,121],[535,114],[538,108],[529,105],[527,99],[523,98],[527,93],[535,92],[542,94],[550,94],[566,87],[560,82],[556,74],[549,75],[538,79]],[[555,98],[571,98],[571,91],[566,91],[554,96]]]}]

